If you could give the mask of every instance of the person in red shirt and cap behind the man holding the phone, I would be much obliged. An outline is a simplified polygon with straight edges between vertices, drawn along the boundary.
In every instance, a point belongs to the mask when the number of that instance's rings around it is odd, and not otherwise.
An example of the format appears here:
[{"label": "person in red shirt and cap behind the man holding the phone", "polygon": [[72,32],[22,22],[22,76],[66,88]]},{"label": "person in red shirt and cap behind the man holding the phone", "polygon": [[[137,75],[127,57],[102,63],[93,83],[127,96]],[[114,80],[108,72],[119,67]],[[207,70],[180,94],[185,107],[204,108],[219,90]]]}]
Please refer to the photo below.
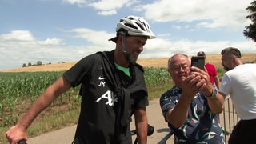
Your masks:
[{"label": "person in red shirt and cap behind the man holding the phone", "polygon": [[210,82],[219,89],[221,83],[219,82],[218,73],[215,66],[206,61],[205,52],[199,51],[198,56],[203,56],[205,58],[205,67],[210,76]]}]

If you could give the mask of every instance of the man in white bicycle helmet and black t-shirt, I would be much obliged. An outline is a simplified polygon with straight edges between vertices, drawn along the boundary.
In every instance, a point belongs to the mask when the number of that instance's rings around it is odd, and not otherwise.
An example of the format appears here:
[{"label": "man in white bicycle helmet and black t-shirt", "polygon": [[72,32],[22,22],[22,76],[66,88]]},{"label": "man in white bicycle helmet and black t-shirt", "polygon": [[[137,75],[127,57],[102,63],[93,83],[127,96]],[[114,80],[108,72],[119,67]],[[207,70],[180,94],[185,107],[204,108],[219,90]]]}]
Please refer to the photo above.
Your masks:
[{"label": "man in white bicycle helmet and black t-shirt", "polygon": [[132,114],[138,142],[146,143],[146,106],[149,102],[144,71],[136,60],[146,40],[155,36],[149,24],[135,16],[121,18],[116,31],[116,37],[110,39],[116,43],[115,50],[90,54],[67,70],[6,132],[10,143],[27,140],[26,130],[34,118],[55,98],[79,85],[81,111],[72,143],[132,143]]}]

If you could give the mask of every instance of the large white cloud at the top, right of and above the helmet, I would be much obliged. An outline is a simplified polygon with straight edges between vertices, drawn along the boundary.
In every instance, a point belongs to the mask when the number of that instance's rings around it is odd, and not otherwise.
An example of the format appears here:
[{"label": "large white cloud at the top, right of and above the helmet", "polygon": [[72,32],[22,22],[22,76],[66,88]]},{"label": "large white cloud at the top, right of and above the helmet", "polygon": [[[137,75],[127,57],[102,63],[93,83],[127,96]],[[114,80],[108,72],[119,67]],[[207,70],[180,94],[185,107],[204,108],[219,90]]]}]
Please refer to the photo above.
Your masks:
[{"label": "large white cloud at the top, right of and above the helmet", "polygon": [[216,28],[231,26],[236,28],[241,23],[247,24],[246,7],[251,0],[161,0],[138,6],[145,10],[145,17],[155,22],[198,22],[201,26]]}]

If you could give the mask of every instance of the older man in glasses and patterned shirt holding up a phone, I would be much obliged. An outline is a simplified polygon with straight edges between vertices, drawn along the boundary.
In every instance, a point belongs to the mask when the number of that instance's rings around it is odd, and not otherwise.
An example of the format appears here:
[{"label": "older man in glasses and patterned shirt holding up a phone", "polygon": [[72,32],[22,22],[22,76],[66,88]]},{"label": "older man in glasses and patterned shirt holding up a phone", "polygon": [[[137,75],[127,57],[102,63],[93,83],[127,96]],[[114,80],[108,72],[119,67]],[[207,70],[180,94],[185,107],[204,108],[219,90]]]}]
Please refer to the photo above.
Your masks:
[{"label": "older man in glasses and patterned shirt holding up a phone", "polygon": [[168,60],[168,71],[174,86],[162,94],[160,106],[175,142],[225,143],[218,121],[224,98],[211,84],[209,74],[190,68],[185,54],[174,54]]}]

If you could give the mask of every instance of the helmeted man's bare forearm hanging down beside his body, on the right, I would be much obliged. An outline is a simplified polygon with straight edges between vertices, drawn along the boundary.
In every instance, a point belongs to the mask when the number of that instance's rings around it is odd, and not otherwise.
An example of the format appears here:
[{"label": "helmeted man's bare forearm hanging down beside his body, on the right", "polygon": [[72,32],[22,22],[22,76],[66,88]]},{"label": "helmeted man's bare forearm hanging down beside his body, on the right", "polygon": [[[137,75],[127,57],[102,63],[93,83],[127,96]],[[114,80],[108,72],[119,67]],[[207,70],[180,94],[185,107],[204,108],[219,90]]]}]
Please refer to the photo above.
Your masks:
[{"label": "helmeted man's bare forearm hanging down beside his body, on the right", "polygon": [[139,144],[146,144],[147,141],[147,117],[146,108],[134,110],[135,126]]}]

